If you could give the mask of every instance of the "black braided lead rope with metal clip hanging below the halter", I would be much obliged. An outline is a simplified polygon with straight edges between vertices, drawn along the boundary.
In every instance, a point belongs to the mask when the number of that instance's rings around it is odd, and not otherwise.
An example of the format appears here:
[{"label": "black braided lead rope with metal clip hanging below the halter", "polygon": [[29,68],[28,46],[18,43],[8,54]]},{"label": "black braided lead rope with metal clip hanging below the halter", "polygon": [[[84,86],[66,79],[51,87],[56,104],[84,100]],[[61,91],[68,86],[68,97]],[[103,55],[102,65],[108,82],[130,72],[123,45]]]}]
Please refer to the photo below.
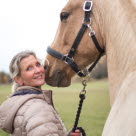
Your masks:
[{"label": "black braided lead rope with metal clip hanging below the halter", "polygon": [[81,110],[82,110],[83,101],[85,100],[85,94],[86,94],[85,88],[87,86],[86,80],[82,81],[82,85],[83,85],[83,89],[81,90],[81,92],[79,94],[80,101],[79,101],[79,106],[78,106],[78,110],[77,110],[75,123],[74,123],[73,129],[72,129],[72,132],[75,132],[76,129],[79,129],[80,132],[82,133],[82,136],[86,136],[85,130],[82,127],[77,127],[79,117],[80,117],[80,114],[81,114]]}]

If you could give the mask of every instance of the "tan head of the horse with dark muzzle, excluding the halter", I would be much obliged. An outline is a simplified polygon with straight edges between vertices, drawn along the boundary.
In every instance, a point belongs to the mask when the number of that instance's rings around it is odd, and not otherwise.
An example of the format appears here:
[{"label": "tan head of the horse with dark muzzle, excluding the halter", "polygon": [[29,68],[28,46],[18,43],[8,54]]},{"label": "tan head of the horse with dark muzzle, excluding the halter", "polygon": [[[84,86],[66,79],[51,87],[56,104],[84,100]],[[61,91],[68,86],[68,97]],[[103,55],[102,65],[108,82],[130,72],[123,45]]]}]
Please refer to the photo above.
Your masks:
[{"label": "tan head of the horse with dark muzzle, excluding the halter", "polygon": [[[84,0],[69,0],[60,13],[60,24],[51,48],[63,55],[69,53],[73,41],[82,26],[84,19],[83,5]],[[95,30],[96,37],[102,45],[100,28],[97,24],[99,20],[94,17],[93,9],[91,11],[91,20],[91,27]],[[99,54],[88,34],[89,29],[84,33],[74,55],[74,61],[80,69],[87,67]],[[51,86],[69,86],[71,78],[75,75],[70,66],[51,55],[47,55],[47,60],[49,60],[50,65],[46,70],[46,83]]]}]

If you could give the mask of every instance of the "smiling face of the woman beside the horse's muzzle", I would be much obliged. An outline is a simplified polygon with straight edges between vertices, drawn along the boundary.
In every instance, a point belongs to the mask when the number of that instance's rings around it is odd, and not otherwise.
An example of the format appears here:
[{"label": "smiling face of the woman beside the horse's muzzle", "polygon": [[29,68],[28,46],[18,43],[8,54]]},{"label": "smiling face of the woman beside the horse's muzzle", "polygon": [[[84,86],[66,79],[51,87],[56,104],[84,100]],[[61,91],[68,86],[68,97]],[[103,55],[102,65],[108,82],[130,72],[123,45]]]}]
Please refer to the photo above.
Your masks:
[{"label": "smiling face of the woman beside the horse's muzzle", "polygon": [[45,83],[45,71],[40,62],[30,55],[20,62],[21,74],[18,77],[19,85],[41,88]]}]

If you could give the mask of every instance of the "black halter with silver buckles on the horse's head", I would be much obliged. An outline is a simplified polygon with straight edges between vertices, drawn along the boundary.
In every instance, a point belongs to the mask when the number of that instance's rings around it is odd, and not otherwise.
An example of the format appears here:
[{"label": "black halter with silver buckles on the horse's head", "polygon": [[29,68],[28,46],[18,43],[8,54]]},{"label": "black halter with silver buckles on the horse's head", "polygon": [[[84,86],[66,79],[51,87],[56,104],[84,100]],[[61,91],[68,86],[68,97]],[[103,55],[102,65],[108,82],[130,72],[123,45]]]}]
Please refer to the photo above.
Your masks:
[{"label": "black halter with silver buckles on the horse's head", "polygon": [[[87,76],[92,69],[95,67],[95,65],[98,63],[98,61],[100,60],[101,56],[103,56],[104,54],[104,50],[100,47],[96,37],[95,37],[95,32],[92,30],[91,26],[90,26],[90,13],[91,13],[91,9],[92,9],[92,1],[91,0],[86,0],[84,2],[84,6],[83,6],[83,10],[85,11],[85,17],[83,20],[83,24],[74,40],[74,43],[69,51],[68,54],[63,55],[58,51],[55,51],[54,49],[52,49],[51,47],[47,48],[47,53],[52,55],[53,57],[56,57],[58,59],[63,60],[65,63],[67,63],[76,73],[78,76],[80,77],[85,77]],[[87,70],[80,70],[78,65],[74,62],[74,55],[76,52],[76,49],[83,37],[83,34],[85,33],[86,29],[89,28],[90,29],[90,33],[89,36],[92,38],[92,41],[95,45],[95,47],[97,48],[97,50],[100,52],[99,56],[97,57],[97,59],[93,62],[93,64],[90,66],[90,68]]]}]

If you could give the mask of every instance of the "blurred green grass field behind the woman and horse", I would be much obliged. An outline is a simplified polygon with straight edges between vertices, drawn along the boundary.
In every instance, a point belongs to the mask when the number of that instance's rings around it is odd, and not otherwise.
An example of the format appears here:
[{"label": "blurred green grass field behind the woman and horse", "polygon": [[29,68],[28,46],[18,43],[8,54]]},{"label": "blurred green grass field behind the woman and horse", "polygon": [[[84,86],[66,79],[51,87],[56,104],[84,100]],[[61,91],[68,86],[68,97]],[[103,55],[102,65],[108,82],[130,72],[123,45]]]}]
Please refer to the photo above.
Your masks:
[{"label": "blurred green grass field behind the woman and horse", "polygon": [[[82,84],[73,83],[67,88],[51,88],[45,85],[43,88],[53,90],[54,105],[69,130],[75,120]],[[0,85],[0,103],[7,98],[10,90],[10,85]],[[90,82],[86,90],[79,126],[85,129],[87,136],[101,136],[110,110],[108,82],[106,80]],[[0,136],[8,136],[8,134],[0,130]]]}]

